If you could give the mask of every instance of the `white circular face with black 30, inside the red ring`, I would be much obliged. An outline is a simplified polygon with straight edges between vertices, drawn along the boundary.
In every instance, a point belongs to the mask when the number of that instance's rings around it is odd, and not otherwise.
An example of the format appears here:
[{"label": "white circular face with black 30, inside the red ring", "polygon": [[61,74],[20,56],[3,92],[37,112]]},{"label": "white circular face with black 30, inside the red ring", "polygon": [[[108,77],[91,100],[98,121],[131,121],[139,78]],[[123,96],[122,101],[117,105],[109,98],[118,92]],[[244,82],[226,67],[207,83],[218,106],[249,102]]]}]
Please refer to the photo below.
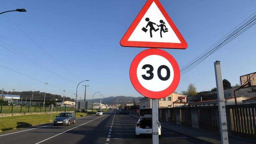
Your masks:
[{"label": "white circular face with black 30, inside the red ring", "polygon": [[137,78],[147,90],[159,92],[173,82],[174,71],[171,63],[159,55],[146,56],[137,67]]}]

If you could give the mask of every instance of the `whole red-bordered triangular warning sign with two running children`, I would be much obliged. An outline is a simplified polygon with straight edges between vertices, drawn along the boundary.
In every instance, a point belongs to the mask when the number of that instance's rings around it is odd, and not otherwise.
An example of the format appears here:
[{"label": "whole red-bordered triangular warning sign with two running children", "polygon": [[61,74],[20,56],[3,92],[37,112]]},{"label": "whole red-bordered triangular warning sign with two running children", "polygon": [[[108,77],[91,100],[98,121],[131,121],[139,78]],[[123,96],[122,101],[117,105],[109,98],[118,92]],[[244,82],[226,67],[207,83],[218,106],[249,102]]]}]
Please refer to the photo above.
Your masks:
[{"label": "whole red-bordered triangular warning sign with two running children", "polygon": [[148,0],[131,24],[120,45],[186,49],[188,44],[180,34],[159,0]]}]

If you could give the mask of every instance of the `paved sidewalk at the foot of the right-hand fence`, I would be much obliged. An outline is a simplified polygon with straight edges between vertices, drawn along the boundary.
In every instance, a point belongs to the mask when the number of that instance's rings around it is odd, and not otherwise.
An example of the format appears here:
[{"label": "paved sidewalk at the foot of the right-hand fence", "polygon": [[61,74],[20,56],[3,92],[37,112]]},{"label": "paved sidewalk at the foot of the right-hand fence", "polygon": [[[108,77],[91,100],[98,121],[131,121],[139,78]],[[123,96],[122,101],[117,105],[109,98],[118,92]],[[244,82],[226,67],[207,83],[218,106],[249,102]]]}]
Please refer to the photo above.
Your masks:
[{"label": "paved sidewalk at the foot of the right-hand fence", "polygon": [[[138,115],[133,115],[133,114],[129,114],[129,115],[139,118]],[[221,144],[221,135],[214,132],[205,131],[202,129],[196,129],[193,127],[187,127],[183,125],[177,125],[172,122],[161,122],[161,125],[166,129],[170,129],[178,133],[185,134],[187,136],[198,138],[198,139],[207,141],[209,143]],[[237,143],[255,144],[256,143],[256,141],[253,141],[253,140],[248,140],[248,139],[243,139],[243,138],[238,138],[233,136],[228,136],[228,141],[230,144],[237,144]]]}]

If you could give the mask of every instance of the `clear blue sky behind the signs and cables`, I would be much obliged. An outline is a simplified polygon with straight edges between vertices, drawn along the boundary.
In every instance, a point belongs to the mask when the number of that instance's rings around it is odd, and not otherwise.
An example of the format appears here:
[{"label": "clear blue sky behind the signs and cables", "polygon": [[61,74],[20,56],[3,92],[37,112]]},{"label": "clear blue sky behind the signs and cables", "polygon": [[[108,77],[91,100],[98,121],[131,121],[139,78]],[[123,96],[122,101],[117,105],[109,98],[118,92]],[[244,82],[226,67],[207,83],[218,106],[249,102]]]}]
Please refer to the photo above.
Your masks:
[{"label": "clear blue sky behind the signs and cables", "polygon": [[[131,85],[129,67],[133,58],[145,48],[121,47],[119,41],[145,2],[1,1],[1,11],[26,8],[26,13],[10,12],[6,15],[79,79],[54,62],[4,15],[0,15],[0,39],[67,79],[76,83],[89,79],[86,83],[90,85],[88,99],[97,91],[105,97],[141,96]],[[164,49],[174,56],[180,67],[254,13],[256,7],[254,0],[160,2],[188,43],[186,50]],[[215,87],[216,60],[221,61],[223,79],[228,79],[232,85],[239,83],[240,75],[255,72],[255,33],[256,27],[253,26],[182,75],[177,91],[185,90],[189,83],[194,83],[198,91]],[[76,84],[42,70],[1,46],[0,54],[0,65],[75,93]],[[0,88],[44,91],[43,83],[1,67],[0,71]],[[83,95],[83,90],[79,86],[78,94]],[[47,92],[63,95],[62,90],[51,86],[47,87]],[[68,92],[66,95],[73,96]]]}]

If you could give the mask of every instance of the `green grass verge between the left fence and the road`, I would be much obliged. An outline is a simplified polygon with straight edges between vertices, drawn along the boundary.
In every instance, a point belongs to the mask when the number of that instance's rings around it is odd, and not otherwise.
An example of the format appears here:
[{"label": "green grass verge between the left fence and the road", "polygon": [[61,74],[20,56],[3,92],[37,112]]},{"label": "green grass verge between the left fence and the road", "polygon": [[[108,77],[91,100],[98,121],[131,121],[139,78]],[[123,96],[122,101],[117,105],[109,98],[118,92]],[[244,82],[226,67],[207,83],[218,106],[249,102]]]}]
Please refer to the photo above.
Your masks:
[{"label": "green grass verge between the left fence and the road", "polygon": [[[59,113],[52,113],[52,120]],[[86,116],[86,113],[76,114],[76,118]],[[43,123],[52,123],[50,121],[51,114],[40,114],[40,115],[17,115],[0,117],[0,133],[7,132],[14,129],[19,129],[22,127],[29,127],[33,125],[40,125]]]}]

